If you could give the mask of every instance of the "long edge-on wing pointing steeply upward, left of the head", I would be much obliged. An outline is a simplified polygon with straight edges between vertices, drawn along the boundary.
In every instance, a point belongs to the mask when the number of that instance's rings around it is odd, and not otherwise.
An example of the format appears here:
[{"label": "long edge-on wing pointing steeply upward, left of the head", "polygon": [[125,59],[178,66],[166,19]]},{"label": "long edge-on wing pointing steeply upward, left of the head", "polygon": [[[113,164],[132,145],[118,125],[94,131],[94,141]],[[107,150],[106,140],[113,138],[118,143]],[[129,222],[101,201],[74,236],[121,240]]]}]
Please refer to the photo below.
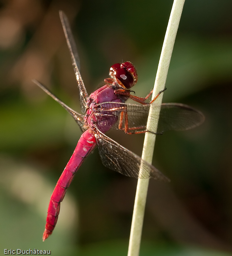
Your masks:
[{"label": "long edge-on wing pointing steeply upward, left of the head", "polygon": [[77,84],[78,84],[78,88],[79,88],[79,99],[80,99],[80,105],[81,105],[81,111],[82,113],[86,112],[86,108],[87,108],[87,99],[88,99],[88,93],[85,89],[85,85],[83,83],[83,80],[81,78],[81,74],[80,74],[80,59],[77,53],[77,47],[73,38],[73,34],[71,32],[70,29],[70,25],[69,25],[69,21],[67,19],[67,16],[60,11],[60,20],[62,23],[62,27],[63,30],[65,32],[65,38],[66,38],[66,42],[69,48],[69,52],[71,55],[71,59],[72,59],[72,64],[73,64],[73,68],[74,68],[74,72],[76,75],[76,79],[77,79]]}]

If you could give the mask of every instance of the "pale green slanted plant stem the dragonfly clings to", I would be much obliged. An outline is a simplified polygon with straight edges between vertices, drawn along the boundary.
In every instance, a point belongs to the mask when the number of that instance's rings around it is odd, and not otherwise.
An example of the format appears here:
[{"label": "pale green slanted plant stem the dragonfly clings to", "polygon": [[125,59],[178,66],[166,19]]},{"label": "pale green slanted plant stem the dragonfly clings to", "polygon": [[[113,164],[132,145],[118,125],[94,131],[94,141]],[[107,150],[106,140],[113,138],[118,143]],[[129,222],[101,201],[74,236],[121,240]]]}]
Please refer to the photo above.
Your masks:
[{"label": "pale green slanted plant stem the dragonfly clings to", "polygon": [[[180,23],[180,17],[183,10],[185,0],[174,0],[172,11],[170,14],[169,22],[167,25],[167,30],[165,34],[165,39],[163,41],[163,47],[161,51],[161,56],[159,59],[158,70],[156,73],[154,90],[152,94],[152,99],[165,88],[167,71],[169,68],[170,59],[172,56],[172,50],[174,42],[176,39],[177,29]],[[155,104],[162,103],[163,94],[155,100]],[[156,132],[158,121],[156,123],[151,122],[151,116],[159,116],[159,110],[151,106],[148,121],[147,129],[149,131]],[[154,120],[154,119],[153,119]],[[158,120],[158,118],[157,118]],[[155,145],[155,135],[151,133],[145,134],[144,144],[143,144],[143,153],[142,159],[151,164],[153,151]],[[141,234],[143,228],[143,218],[147,198],[149,179],[139,179],[137,183],[137,190],[135,196],[135,205],[133,210],[132,225],[130,230],[130,241],[128,256],[139,256]]]}]

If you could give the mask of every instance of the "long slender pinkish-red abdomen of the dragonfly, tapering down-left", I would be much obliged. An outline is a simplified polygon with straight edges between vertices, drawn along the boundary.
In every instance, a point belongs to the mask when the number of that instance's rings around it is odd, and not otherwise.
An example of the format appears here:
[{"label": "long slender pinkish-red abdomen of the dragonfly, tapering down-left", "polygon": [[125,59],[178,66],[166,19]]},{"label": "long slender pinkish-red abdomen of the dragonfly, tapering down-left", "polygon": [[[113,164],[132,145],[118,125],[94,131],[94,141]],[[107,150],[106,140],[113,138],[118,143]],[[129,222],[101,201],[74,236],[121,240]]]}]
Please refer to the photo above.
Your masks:
[{"label": "long slender pinkish-red abdomen of the dragonfly, tapering down-left", "polygon": [[81,135],[73,155],[71,156],[62,175],[56,183],[48,205],[48,215],[46,220],[47,223],[45,225],[43,241],[52,234],[52,231],[55,228],[60,211],[60,202],[62,202],[66,190],[73,180],[76,171],[81,166],[82,162],[85,160],[88,154],[95,148],[95,146],[96,139],[88,129]]}]

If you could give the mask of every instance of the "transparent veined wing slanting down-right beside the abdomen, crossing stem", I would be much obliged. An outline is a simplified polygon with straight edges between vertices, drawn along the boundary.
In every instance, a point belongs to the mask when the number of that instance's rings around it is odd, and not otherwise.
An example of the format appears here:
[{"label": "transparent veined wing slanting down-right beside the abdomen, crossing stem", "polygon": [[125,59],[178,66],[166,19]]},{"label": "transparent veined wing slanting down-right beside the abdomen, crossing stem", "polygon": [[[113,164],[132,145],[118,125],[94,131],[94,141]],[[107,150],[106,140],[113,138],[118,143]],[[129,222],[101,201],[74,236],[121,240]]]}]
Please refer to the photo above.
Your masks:
[{"label": "transparent veined wing slanting down-right beside the abdomen, crossing stem", "polygon": [[95,137],[104,166],[113,171],[117,171],[122,175],[133,178],[154,178],[157,180],[169,181],[169,179],[153,165],[148,164],[148,162],[142,160],[141,157],[125,147],[122,147],[117,142],[100,132],[97,128],[95,129]]}]

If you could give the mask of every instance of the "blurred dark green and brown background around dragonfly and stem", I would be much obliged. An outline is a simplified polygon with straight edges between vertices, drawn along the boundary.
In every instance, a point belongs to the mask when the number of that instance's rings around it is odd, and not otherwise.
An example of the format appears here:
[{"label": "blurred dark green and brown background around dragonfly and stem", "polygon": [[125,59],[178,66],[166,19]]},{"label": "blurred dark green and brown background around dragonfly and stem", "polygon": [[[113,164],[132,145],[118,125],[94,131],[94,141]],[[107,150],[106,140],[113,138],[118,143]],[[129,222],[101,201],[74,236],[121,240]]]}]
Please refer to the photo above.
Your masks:
[{"label": "blurred dark green and brown background around dragonfly and stem", "polygon": [[[81,132],[34,85],[51,88],[80,112],[59,10],[72,24],[90,94],[111,65],[131,61],[145,96],[153,87],[172,0],[1,0],[0,254],[46,249],[52,255],[127,255],[136,180],[87,158],[42,242],[52,190]],[[171,179],[150,181],[141,256],[231,255],[232,1],[186,1],[163,102],[201,110],[206,121],[156,139],[153,164]],[[143,135],[109,136],[141,155]]]}]

